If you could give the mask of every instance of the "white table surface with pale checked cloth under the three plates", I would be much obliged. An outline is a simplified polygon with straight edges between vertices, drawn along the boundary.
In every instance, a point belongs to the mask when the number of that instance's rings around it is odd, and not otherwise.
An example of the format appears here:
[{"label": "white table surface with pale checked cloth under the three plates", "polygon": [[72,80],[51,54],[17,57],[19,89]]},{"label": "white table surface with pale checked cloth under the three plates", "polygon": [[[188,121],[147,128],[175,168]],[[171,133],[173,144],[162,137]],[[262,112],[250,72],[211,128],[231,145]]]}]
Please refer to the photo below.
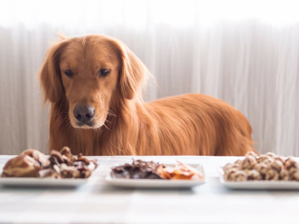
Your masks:
[{"label": "white table surface with pale checked cloth under the three plates", "polygon": [[[0,156],[0,167],[12,156]],[[132,157],[98,159],[99,175]],[[216,166],[238,157],[134,157],[202,164],[207,183],[190,190],[120,189],[89,182],[74,189],[0,188],[0,223],[298,223],[298,191],[233,191]]]}]

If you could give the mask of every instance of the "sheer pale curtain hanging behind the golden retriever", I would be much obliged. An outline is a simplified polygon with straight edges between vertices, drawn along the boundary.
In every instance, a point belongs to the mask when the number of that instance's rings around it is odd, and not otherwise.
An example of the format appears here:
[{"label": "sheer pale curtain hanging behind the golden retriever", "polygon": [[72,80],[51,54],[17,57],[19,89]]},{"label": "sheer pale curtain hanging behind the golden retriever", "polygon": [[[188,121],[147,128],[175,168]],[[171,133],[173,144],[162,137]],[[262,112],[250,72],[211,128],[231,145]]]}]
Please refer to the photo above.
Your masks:
[{"label": "sheer pale curtain hanging behind the golden retriever", "polygon": [[240,110],[255,147],[299,156],[297,1],[2,1],[0,154],[47,152],[49,105],[36,78],[57,34],[123,41],[158,85],[147,101],[205,93]]}]

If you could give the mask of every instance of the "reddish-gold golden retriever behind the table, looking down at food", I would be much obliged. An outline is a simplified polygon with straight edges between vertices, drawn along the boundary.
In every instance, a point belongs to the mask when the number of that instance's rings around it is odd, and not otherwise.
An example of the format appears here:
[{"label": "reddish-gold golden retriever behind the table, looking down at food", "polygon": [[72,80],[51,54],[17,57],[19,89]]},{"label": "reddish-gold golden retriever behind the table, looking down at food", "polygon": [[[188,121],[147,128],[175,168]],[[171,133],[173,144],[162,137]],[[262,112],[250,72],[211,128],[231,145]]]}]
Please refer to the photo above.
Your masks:
[{"label": "reddish-gold golden retriever behind the table, looking down at food", "polygon": [[49,150],[84,155],[243,156],[251,126],[220,99],[186,94],[145,103],[149,71],[109,36],[62,38],[39,72],[51,102]]}]

